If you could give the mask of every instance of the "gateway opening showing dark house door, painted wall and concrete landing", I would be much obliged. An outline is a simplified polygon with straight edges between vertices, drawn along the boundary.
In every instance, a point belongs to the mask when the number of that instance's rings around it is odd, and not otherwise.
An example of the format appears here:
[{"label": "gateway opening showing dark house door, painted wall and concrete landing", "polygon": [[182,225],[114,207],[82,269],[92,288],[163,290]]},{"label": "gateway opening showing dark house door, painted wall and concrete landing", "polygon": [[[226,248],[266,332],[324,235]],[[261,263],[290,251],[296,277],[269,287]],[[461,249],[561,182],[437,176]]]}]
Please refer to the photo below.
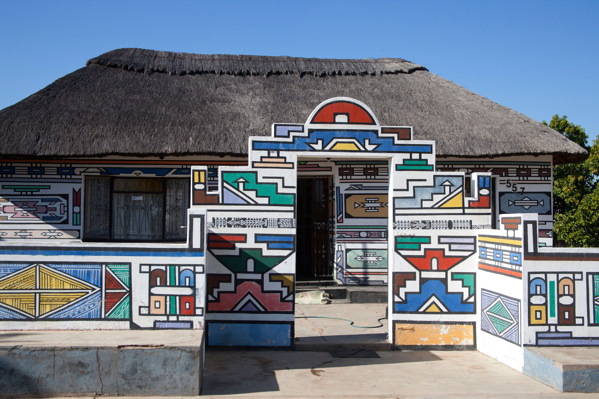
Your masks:
[{"label": "gateway opening showing dark house door, painted wall and concrete landing", "polygon": [[370,247],[386,253],[388,163],[338,162],[332,176],[298,176],[295,348],[387,348],[386,285],[347,285],[340,276],[350,256],[347,276],[382,280],[366,262]]}]

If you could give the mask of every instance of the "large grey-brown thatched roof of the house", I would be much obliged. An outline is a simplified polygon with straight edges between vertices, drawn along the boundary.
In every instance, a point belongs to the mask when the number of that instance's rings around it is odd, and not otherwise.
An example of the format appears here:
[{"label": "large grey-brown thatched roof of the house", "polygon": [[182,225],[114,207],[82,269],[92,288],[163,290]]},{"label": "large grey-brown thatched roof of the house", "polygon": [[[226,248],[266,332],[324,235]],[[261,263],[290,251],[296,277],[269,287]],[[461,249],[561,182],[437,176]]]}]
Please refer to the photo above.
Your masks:
[{"label": "large grey-brown thatched roof of the house", "polygon": [[347,96],[383,125],[414,126],[438,156],[587,152],[536,120],[403,59],[200,55],[119,49],[90,59],[0,110],[0,154],[238,155],[271,123],[304,123],[321,101]]}]

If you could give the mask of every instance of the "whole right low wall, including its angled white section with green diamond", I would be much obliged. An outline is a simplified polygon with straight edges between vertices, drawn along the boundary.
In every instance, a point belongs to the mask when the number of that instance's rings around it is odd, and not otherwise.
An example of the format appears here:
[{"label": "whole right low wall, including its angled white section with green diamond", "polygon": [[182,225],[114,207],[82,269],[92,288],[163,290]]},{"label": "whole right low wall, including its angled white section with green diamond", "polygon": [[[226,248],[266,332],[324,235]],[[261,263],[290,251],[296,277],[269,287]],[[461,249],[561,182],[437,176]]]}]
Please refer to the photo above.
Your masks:
[{"label": "whole right low wall, including its angled white section with green diamond", "polygon": [[524,346],[599,346],[599,249],[539,246],[536,214],[478,235],[477,349],[516,370]]}]

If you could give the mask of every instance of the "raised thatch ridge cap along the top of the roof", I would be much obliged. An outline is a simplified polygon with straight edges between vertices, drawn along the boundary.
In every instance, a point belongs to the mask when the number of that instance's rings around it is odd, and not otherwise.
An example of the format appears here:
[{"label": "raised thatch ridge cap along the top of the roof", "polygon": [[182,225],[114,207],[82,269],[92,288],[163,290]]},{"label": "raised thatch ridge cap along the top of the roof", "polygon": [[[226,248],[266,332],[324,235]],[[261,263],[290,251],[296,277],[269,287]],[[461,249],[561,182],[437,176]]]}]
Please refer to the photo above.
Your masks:
[{"label": "raised thatch ridge cap along the top of the roof", "polygon": [[428,71],[422,65],[400,58],[322,59],[289,56],[173,53],[144,49],[117,49],[87,61],[126,71],[159,72],[170,75],[233,74],[270,75],[362,75]]}]

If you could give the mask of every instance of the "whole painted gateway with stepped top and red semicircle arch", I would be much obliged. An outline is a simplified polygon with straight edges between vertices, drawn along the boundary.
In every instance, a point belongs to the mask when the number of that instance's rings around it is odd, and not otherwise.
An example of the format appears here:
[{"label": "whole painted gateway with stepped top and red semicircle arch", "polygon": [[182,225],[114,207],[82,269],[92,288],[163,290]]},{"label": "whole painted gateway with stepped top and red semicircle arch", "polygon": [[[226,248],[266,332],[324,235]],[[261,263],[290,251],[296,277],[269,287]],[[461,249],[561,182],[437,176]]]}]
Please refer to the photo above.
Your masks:
[{"label": "whole painted gateway with stepped top and red semicircle arch", "polygon": [[[476,246],[472,230],[491,224],[489,174],[473,177],[473,197],[466,198],[463,173],[434,172],[434,142],[412,140],[410,127],[381,126],[367,105],[338,97],[319,104],[304,124],[277,123],[271,137],[250,137],[248,167],[220,168],[217,192],[208,191],[206,168],[193,167],[192,206],[207,209],[209,346],[293,344],[295,237],[302,234],[296,231],[298,158],[388,162],[388,197],[377,195],[371,208],[393,208],[388,228],[394,234],[385,250],[393,331],[400,331],[401,319],[436,318],[437,325],[451,321],[456,328],[474,323],[475,266],[465,259]],[[368,207],[362,202],[356,206]],[[425,295],[437,299],[416,306]],[[466,329],[450,344],[472,345],[473,331]]]}]

